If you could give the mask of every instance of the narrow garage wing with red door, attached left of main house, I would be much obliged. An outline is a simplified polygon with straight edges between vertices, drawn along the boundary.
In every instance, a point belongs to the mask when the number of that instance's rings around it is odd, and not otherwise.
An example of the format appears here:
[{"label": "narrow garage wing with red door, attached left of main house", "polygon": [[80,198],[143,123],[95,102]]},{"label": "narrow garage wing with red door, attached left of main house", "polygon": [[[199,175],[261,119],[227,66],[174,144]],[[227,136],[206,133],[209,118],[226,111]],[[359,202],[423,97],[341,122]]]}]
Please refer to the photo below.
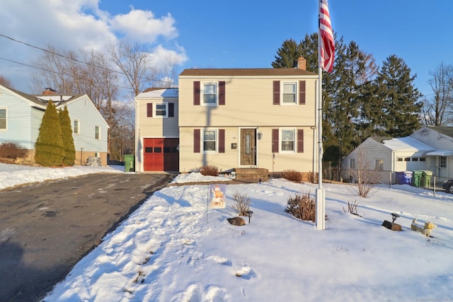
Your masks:
[{"label": "narrow garage wing with red door, attached left of main house", "polygon": [[178,89],[150,88],[137,95],[135,118],[136,171],[178,172]]}]

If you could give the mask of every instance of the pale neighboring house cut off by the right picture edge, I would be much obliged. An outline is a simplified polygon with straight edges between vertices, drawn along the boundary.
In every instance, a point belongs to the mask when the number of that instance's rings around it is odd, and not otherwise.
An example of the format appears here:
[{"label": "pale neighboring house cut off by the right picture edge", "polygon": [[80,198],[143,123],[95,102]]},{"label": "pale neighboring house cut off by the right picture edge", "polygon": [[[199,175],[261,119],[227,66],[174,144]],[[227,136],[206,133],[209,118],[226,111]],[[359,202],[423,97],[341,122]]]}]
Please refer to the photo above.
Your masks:
[{"label": "pale neighboring house cut off by the right picture edge", "polygon": [[434,151],[425,153],[426,170],[440,181],[453,178],[453,127],[423,127],[411,134],[413,139],[432,146]]}]

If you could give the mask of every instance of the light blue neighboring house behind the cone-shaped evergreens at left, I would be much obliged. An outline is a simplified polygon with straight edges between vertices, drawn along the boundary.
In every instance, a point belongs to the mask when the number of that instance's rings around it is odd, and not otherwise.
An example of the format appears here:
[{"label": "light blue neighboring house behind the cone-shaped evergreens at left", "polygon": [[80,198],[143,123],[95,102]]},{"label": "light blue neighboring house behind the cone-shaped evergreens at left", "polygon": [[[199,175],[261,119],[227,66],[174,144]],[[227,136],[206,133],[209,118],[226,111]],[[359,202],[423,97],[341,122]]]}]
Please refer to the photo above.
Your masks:
[{"label": "light blue neighboring house behind the cone-shaped evergreens at left", "polygon": [[90,156],[107,164],[108,124],[88,95],[57,95],[46,88],[42,95],[29,95],[0,85],[0,144],[13,141],[28,149],[28,161],[34,163],[35,142],[47,103],[52,100],[57,110],[67,106],[71,119],[75,165],[85,165]]}]

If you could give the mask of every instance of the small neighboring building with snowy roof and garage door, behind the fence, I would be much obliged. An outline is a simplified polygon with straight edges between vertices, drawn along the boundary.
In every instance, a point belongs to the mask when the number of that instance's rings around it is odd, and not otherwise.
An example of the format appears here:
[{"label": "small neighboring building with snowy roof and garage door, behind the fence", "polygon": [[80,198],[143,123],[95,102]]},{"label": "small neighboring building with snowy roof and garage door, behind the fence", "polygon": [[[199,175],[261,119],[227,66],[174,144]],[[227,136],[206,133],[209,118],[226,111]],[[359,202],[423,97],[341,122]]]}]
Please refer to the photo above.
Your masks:
[{"label": "small neighboring building with snowy roof and garage door, behind the fence", "polygon": [[413,137],[369,137],[343,159],[342,177],[350,180],[352,170],[364,167],[381,171],[377,182],[397,183],[396,172],[429,170],[425,154],[433,151],[435,148]]}]

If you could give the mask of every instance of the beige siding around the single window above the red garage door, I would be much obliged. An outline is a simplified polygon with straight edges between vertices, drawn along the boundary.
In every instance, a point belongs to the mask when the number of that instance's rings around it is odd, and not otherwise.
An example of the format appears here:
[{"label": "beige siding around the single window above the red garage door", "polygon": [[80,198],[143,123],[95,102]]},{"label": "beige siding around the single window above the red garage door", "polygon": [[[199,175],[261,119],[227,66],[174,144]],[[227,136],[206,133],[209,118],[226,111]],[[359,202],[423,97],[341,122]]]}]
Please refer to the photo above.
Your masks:
[{"label": "beige siding around the single window above the red garage door", "polygon": [[[147,117],[148,103],[174,103],[175,117]],[[140,99],[137,101],[137,117],[140,137],[178,137],[178,99]]]}]

